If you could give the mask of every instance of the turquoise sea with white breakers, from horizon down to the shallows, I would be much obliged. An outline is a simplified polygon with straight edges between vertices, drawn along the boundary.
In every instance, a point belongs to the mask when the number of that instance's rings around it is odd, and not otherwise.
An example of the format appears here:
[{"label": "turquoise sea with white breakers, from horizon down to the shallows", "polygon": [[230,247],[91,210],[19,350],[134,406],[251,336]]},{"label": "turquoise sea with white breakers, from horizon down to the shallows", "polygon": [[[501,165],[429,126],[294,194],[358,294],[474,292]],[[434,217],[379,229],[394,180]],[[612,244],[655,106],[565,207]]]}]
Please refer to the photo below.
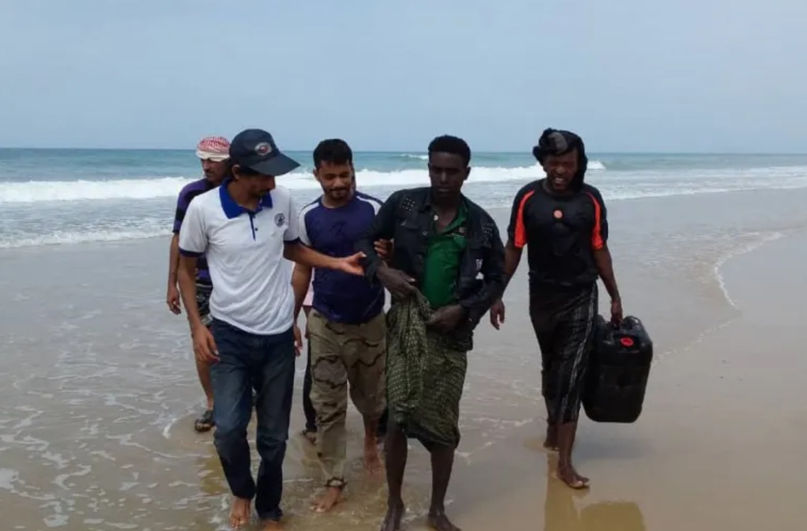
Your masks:
[{"label": "turquoise sea with white breakers, from horizon down to the shallows", "polygon": [[[299,203],[316,197],[309,152],[278,183]],[[358,185],[381,199],[428,182],[425,153],[356,153]],[[507,207],[542,175],[529,153],[475,153],[466,194]],[[807,187],[807,155],[590,154],[588,182],[618,201]],[[0,248],[166,235],[174,201],[201,175],[191,150],[0,148]]]}]

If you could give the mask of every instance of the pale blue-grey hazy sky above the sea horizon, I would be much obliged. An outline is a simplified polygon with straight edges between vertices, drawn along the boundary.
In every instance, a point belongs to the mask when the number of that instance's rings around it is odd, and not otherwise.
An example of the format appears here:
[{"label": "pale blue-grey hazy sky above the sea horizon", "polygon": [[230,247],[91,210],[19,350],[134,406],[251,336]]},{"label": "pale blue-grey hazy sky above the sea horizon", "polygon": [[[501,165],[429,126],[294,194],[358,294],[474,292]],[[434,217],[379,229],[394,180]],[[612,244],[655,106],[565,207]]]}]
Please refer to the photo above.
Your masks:
[{"label": "pale blue-grey hazy sky above the sea horizon", "polygon": [[805,0],[0,0],[0,146],[807,152]]}]

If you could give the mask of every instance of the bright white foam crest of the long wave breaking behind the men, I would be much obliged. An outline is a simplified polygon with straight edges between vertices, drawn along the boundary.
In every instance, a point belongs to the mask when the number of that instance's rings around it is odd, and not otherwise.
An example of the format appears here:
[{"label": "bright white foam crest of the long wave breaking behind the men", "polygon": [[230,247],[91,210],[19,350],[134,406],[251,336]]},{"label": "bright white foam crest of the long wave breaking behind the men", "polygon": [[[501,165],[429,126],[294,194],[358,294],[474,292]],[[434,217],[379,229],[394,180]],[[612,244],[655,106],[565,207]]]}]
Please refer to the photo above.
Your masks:
[{"label": "bright white foam crest of the long wave breaking behind the men", "polygon": [[[599,161],[590,168],[605,169]],[[478,166],[471,170],[474,182],[525,181],[543,175],[538,165],[519,168]],[[421,186],[429,183],[425,169],[379,172],[361,169],[356,173],[359,186]],[[194,179],[184,177],[110,179],[104,181],[28,181],[0,185],[0,203],[40,203],[44,201],[87,201],[99,199],[156,199],[176,197],[182,186]],[[278,184],[291,190],[320,187],[311,174],[293,173],[278,178]]]}]

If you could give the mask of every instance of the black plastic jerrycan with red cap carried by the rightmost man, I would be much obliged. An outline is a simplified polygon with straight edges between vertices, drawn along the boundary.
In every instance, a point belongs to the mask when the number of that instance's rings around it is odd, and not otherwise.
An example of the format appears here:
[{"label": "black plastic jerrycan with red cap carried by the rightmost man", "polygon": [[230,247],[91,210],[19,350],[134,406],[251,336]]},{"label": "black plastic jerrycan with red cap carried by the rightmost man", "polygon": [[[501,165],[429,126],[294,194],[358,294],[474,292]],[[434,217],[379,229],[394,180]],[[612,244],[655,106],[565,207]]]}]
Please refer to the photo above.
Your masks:
[{"label": "black plastic jerrycan with red cap carried by the rightmost man", "polygon": [[653,341],[642,321],[627,316],[615,326],[597,316],[583,409],[595,422],[635,422],[642,414]]}]

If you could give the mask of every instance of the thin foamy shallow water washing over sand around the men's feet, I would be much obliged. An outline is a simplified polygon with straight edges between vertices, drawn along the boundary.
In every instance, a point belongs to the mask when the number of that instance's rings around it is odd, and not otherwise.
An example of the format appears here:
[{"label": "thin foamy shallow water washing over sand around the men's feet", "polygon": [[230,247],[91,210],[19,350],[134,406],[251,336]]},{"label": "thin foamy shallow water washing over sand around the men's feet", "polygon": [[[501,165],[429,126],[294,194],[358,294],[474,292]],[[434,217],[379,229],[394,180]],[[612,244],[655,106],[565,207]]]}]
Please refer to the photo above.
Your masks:
[{"label": "thin foamy shallow water washing over sand around the men's feet", "polygon": [[[612,207],[611,245],[625,311],[645,321],[659,360],[675,357],[705,331],[738,316],[718,266],[807,226],[804,199],[804,190],[767,191]],[[507,212],[495,216],[504,220]],[[500,227],[504,231],[504,223]],[[192,429],[201,397],[186,322],[162,302],[167,245],[153,239],[0,252],[4,529],[225,529],[227,487],[211,435]],[[546,469],[538,449],[540,366],[525,316],[524,271],[522,265],[508,290],[504,328],[495,332],[483,321],[470,357],[457,479],[449,492],[458,500],[454,507],[470,510],[499,500],[481,493],[495,492],[504,478],[529,476],[534,482]],[[604,291],[602,299],[605,307]],[[353,411],[349,498],[333,515],[308,510],[320,482],[316,456],[296,436],[303,424],[303,369],[300,359],[286,458],[289,529],[377,529],[386,489],[383,478],[362,472],[361,422]],[[601,427],[593,433],[599,438],[581,446],[584,455],[596,455],[597,445],[613,437]],[[627,437],[620,444],[626,456],[647,451]],[[536,462],[513,462],[510,447],[529,449]],[[414,526],[428,504],[428,470],[426,454],[413,445],[405,496]],[[599,508],[577,514],[573,501],[565,491],[550,489],[546,502],[535,502],[545,507],[546,529],[616,529],[594,521],[644,529],[641,513],[630,504],[606,498]],[[466,525],[466,531],[474,528]]]}]

